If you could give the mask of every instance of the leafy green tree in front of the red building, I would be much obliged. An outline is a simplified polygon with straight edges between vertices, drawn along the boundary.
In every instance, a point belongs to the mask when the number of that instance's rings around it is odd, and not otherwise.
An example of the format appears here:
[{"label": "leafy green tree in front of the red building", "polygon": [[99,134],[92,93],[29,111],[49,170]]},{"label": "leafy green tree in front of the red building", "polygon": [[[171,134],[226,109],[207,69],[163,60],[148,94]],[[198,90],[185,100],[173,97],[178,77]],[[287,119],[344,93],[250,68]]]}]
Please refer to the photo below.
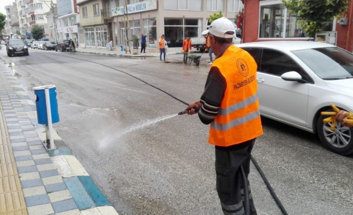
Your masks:
[{"label": "leafy green tree in front of the red building", "polygon": [[297,14],[297,21],[309,37],[322,26],[348,9],[348,0],[282,0],[289,12]]}]

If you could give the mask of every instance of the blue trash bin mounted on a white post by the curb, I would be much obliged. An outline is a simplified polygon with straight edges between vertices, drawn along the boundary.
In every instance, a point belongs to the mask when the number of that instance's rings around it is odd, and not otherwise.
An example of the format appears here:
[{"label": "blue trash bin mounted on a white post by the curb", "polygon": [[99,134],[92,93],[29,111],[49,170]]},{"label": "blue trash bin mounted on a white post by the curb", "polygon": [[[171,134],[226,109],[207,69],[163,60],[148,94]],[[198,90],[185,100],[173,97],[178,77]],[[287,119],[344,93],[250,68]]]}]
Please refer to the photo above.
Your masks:
[{"label": "blue trash bin mounted on a white post by the curb", "polygon": [[44,88],[49,88],[49,100],[50,100],[50,111],[51,111],[51,123],[59,121],[59,114],[57,112],[57,100],[56,100],[56,88],[55,85],[42,85],[33,87],[35,99],[35,108],[37,111],[38,124],[48,124],[46,116],[46,104],[45,104],[45,93]]}]

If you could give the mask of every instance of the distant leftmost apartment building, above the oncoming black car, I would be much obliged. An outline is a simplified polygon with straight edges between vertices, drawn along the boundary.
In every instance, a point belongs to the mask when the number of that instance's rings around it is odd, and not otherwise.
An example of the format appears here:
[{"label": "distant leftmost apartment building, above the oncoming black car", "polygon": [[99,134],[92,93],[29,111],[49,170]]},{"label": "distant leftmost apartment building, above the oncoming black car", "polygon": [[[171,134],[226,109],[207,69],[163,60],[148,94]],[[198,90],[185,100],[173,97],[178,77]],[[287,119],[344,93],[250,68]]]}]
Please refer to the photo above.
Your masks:
[{"label": "distant leftmost apartment building, above the oncoming black car", "polygon": [[19,30],[18,18],[17,18],[17,7],[16,3],[13,2],[12,5],[6,5],[6,19],[4,32],[7,36],[13,36],[16,31]]}]

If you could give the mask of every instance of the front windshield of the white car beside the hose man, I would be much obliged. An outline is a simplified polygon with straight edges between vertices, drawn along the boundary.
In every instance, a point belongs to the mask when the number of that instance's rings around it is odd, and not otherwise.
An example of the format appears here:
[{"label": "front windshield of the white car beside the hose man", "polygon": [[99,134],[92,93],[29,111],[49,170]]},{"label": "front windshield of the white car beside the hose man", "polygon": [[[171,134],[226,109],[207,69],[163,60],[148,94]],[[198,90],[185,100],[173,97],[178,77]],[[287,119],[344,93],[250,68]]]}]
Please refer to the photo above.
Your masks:
[{"label": "front windshield of the white car beside the hose man", "polygon": [[292,52],[318,77],[324,80],[353,78],[353,55],[338,47],[304,49]]}]

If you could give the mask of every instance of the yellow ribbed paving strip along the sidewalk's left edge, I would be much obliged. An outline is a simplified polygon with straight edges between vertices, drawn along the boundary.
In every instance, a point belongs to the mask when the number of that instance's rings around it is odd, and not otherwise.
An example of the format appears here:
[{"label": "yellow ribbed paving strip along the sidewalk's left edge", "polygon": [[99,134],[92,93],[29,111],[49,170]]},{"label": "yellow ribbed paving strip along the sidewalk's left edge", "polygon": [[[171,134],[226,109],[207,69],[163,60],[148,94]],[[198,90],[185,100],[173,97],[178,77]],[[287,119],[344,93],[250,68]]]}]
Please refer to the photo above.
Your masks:
[{"label": "yellow ribbed paving strip along the sidewalk's left edge", "polygon": [[28,215],[0,106],[0,215]]}]

